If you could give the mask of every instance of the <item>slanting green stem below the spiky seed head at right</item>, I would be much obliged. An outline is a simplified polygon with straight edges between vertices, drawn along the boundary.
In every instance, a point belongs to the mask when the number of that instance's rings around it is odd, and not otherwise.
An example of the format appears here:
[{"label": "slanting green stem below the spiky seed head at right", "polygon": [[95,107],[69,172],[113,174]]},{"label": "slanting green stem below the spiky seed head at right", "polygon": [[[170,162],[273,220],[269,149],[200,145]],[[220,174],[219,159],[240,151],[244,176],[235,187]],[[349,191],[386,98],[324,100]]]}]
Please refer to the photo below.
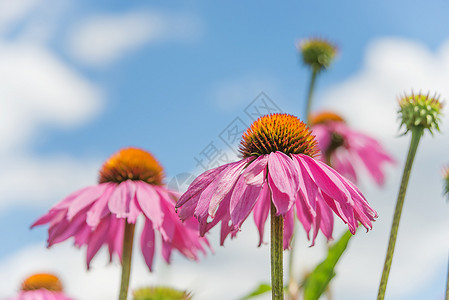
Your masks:
[{"label": "slanting green stem below the spiky seed head at right", "polygon": [[391,262],[393,261],[394,247],[396,245],[396,237],[398,235],[399,221],[401,219],[402,206],[404,205],[405,192],[407,191],[408,179],[412,170],[413,160],[416,150],[418,149],[419,140],[423,135],[424,129],[415,127],[412,129],[412,139],[408,150],[407,160],[402,174],[401,187],[399,188],[398,200],[394,210],[393,224],[391,225],[390,240],[388,241],[388,250],[385,257],[384,269],[382,271],[382,279],[380,280],[379,292],[377,300],[383,300],[387,289],[388,275],[390,274]]}]

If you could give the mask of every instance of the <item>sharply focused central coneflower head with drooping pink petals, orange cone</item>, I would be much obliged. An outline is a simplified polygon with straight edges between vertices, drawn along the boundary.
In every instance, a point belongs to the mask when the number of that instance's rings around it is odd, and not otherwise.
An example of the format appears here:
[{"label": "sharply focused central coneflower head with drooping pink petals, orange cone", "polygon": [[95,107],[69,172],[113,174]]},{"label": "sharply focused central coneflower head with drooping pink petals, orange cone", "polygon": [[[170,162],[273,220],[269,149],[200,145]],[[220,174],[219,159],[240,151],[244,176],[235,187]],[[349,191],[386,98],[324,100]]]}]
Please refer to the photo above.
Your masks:
[{"label": "sharply focused central coneflower head with drooping pink petals, orange cone", "polygon": [[352,233],[358,222],[372,227],[376,212],[354,184],[313,158],[315,139],[298,118],[259,118],[243,135],[240,152],[242,160],[198,176],[176,205],[182,220],[199,220],[201,235],[221,221],[223,244],[253,211],[260,245],[271,203],[284,216],[284,249],[290,245],[295,210],[308,234],[313,228],[312,244],[319,230],[332,238],[332,211]]}]

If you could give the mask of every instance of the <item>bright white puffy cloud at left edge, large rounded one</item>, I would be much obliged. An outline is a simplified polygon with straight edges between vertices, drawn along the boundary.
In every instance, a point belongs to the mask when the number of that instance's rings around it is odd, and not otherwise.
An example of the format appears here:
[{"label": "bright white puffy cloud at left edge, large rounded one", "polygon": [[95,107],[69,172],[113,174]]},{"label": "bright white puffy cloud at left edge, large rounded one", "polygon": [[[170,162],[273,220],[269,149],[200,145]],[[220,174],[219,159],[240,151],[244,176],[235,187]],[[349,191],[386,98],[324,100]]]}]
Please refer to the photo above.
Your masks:
[{"label": "bright white puffy cloud at left edge, large rounded one", "polygon": [[0,151],[20,146],[41,125],[73,127],[102,108],[93,84],[33,44],[0,43]]}]

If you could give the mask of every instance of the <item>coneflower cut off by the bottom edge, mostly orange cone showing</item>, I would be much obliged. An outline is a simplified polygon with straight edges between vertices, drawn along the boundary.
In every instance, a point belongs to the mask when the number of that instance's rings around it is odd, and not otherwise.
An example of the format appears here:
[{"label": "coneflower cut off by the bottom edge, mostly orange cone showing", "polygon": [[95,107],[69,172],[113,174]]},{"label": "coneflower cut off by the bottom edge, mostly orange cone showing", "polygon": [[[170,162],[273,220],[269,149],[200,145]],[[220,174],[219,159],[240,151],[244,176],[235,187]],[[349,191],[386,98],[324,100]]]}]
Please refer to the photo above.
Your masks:
[{"label": "coneflower cut off by the bottom edge, mostly orange cone showing", "polygon": [[72,300],[62,289],[61,281],[52,274],[34,274],[22,283],[19,294],[8,300]]}]

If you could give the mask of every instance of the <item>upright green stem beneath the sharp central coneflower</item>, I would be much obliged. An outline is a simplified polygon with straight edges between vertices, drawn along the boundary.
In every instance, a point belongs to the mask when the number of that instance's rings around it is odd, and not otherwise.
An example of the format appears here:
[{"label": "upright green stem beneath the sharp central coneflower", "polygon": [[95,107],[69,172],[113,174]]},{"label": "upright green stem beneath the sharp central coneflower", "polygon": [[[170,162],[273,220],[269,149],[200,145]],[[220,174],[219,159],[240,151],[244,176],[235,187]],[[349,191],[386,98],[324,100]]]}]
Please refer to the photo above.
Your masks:
[{"label": "upright green stem beneath the sharp central coneflower", "polygon": [[273,300],[284,300],[283,270],[284,217],[276,216],[271,202],[271,292]]}]

